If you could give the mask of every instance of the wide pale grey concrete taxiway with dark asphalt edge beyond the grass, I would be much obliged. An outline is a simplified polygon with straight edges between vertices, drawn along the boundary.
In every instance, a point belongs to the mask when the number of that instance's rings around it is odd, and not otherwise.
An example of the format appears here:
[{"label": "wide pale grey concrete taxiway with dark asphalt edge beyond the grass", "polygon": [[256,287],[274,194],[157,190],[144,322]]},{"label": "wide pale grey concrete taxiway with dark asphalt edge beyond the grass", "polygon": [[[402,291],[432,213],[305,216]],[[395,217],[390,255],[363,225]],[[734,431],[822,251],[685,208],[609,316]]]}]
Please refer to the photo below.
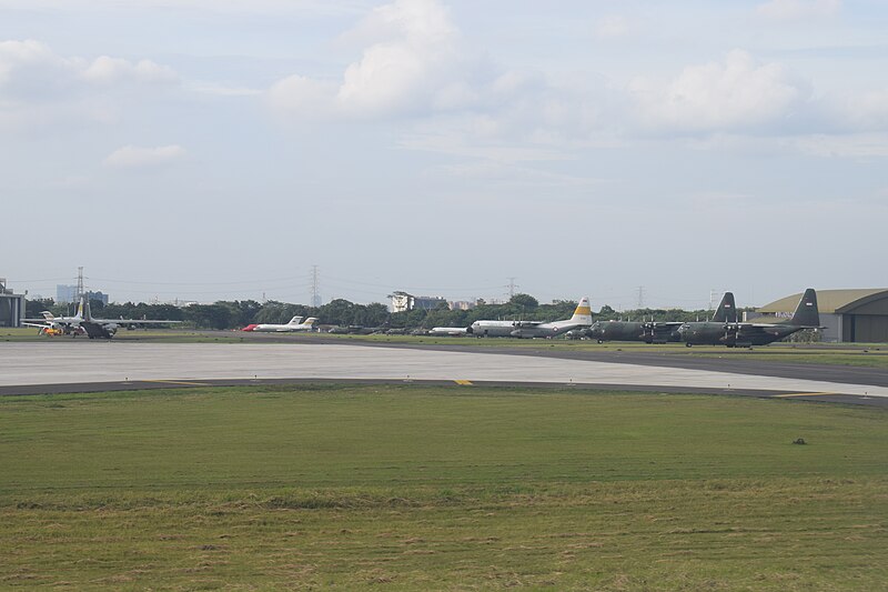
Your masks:
[{"label": "wide pale grey concrete taxiway with dark asphalt edge beyond the grass", "polygon": [[[709,368],[717,368],[717,360]],[[767,364],[761,364],[767,365]],[[0,394],[255,381],[384,380],[730,392],[888,405],[888,387],[666,365],[333,343],[0,343]],[[876,381],[874,381],[876,382]],[[87,388],[89,385],[89,388]]]}]

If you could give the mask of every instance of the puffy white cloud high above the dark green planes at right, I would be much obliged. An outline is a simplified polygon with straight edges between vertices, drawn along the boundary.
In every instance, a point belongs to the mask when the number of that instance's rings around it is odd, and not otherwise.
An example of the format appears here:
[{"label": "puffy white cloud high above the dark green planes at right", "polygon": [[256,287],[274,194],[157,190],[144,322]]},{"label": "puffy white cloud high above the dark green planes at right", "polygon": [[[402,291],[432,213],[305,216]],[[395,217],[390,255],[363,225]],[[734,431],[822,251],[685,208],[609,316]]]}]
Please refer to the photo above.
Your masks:
[{"label": "puffy white cloud high above the dark green planes at right", "polygon": [[687,67],[665,86],[636,79],[629,90],[645,126],[689,133],[775,124],[809,97],[780,64],[740,50],[724,63]]}]

